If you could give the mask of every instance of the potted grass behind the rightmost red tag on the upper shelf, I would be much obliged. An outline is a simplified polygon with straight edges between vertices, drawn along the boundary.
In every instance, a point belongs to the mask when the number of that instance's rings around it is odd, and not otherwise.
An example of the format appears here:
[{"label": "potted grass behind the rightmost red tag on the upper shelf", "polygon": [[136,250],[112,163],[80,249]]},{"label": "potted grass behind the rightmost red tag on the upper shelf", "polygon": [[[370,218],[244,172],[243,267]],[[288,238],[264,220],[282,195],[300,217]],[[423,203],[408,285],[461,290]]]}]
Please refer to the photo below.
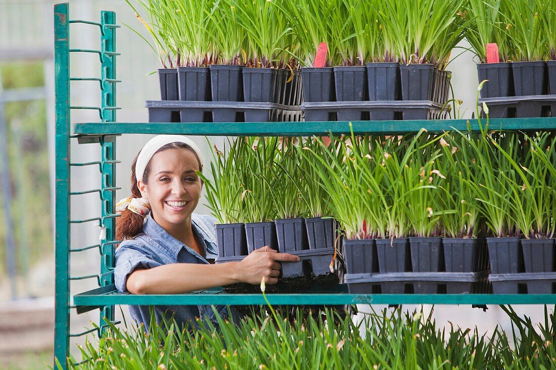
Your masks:
[{"label": "potted grass behind the rightmost red tag on the upper shelf", "polygon": [[[505,27],[502,0],[469,0],[465,16],[470,24],[465,38],[480,59],[477,64],[479,81],[488,80],[481,90],[482,98],[508,97],[514,95],[512,64],[508,62],[510,43]],[[498,63],[486,63],[486,44],[496,43]]]}]

